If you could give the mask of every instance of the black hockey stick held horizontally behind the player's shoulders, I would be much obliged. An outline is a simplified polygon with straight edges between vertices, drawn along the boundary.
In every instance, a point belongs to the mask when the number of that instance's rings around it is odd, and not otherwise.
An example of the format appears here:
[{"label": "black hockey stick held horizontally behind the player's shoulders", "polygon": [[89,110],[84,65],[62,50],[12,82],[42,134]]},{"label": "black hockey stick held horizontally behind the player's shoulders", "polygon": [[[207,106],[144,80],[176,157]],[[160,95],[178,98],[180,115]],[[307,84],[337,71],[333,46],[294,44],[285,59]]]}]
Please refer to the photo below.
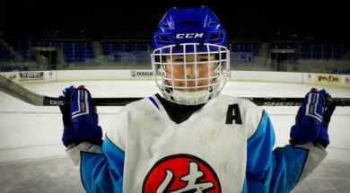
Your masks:
[{"label": "black hockey stick held horizontally behind the player's shoulders", "polygon": [[[0,91],[36,106],[60,106],[69,102],[31,92],[21,85],[8,80],[3,75],[0,75]],[[96,106],[124,106],[130,102],[139,101],[141,99],[143,98],[94,98],[92,101]],[[243,99],[252,101],[259,106],[301,106],[304,100],[303,98],[268,97],[243,97]],[[335,102],[337,106],[350,106],[350,98],[332,98],[327,102]]]}]

